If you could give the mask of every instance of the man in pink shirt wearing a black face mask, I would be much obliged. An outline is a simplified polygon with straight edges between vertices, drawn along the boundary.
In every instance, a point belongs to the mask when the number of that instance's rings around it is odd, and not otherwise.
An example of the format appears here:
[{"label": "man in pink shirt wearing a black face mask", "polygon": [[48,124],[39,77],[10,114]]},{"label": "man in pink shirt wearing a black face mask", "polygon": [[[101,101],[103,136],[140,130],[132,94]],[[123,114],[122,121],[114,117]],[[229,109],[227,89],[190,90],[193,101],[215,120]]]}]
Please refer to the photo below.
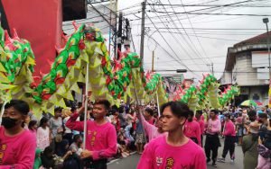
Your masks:
[{"label": "man in pink shirt wearing a black face mask", "polygon": [[36,140],[32,132],[23,129],[29,105],[21,100],[5,104],[0,127],[0,168],[33,168]]}]

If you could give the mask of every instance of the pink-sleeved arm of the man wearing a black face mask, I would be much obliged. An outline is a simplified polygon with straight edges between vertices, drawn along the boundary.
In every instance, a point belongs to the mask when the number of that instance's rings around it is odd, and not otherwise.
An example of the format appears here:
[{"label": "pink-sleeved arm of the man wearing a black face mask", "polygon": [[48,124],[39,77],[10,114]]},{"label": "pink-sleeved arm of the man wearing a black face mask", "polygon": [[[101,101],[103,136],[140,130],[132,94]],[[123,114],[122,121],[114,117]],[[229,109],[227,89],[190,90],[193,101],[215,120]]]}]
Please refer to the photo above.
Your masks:
[{"label": "pink-sleeved arm of the man wearing a black face mask", "polygon": [[35,149],[36,149],[36,138],[34,137],[27,137],[25,138],[24,142],[22,143],[22,149],[20,155],[18,156],[17,164],[13,165],[1,165],[1,169],[26,169],[26,168],[33,168],[33,163],[35,159]]}]

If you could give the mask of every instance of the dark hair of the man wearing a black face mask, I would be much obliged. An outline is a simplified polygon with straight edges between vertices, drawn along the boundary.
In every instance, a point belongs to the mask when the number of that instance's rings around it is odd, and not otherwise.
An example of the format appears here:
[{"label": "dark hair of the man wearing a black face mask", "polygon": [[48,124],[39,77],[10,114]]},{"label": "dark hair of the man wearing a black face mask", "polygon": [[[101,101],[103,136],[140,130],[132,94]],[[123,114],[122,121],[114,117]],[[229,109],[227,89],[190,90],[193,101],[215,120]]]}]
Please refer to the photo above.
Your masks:
[{"label": "dark hair of the man wearing a black face mask", "polygon": [[22,100],[11,100],[5,104],[5,109],[13,107],[16,111],[19,111],[23,115],[27,115],[29,112],[29,105]]}]

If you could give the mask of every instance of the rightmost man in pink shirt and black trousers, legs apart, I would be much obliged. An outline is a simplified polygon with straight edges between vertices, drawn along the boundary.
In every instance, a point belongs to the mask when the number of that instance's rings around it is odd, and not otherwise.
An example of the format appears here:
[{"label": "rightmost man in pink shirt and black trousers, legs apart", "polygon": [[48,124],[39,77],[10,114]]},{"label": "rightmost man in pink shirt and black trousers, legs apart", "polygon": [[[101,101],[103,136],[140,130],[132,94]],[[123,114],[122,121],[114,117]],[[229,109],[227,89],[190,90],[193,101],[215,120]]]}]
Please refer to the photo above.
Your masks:
[{"label": "rightmost man in pink shirt and black trousers, legs apart", "polygon": [[223,132],[223,136],[225,136],[225,143],[224,143],[222,157],[218,159],[218,162],[225,163],[225,157],[227,156],[228,151],[229,151],[231,163],[233,163],[234,162],[235,138],[236,138],[235,125],[230,120],[229,113],[226,113],[224,115],[224,117],[226,118],[225,129]]}]

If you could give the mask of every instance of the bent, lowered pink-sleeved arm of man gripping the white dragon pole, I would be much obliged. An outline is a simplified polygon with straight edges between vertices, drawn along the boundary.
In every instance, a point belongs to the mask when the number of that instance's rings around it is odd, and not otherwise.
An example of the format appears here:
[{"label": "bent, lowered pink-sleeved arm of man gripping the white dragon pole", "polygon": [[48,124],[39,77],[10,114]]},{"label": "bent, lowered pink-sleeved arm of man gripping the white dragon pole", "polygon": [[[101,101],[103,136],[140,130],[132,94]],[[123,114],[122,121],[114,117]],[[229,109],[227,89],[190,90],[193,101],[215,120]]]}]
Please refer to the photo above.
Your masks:
[{"label": "bent, lowered pink-sleeved arm of man gripping the white dragon pole", "polygon": [[108,129],[107,131],[107,143],[107,149],[92,151],[93,160],[109,158],[117,154],[117,131],[114,127]]}]

